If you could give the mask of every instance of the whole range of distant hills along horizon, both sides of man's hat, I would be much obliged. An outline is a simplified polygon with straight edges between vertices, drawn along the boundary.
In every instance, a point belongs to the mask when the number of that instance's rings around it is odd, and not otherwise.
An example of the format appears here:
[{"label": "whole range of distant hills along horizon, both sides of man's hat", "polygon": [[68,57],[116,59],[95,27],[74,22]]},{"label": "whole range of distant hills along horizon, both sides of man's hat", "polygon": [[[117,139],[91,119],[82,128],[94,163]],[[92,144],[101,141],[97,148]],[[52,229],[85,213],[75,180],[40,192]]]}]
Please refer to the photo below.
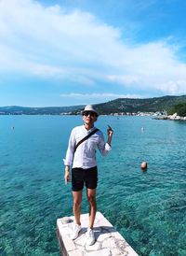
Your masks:
[{"label": "whole range of distant hills along horizon, both sides of man's hat", "polygon": [[[137,113],[140,112],[171,112],[175,106],[186,103],[186,95],[164,96],[146,99],[119,98],[106,103],[94,105],[100,114],[111,113]],[[0,107],[1,115],[60,115],[60,114],[79,114],[84,108],[81,106],[70,107]]]}]

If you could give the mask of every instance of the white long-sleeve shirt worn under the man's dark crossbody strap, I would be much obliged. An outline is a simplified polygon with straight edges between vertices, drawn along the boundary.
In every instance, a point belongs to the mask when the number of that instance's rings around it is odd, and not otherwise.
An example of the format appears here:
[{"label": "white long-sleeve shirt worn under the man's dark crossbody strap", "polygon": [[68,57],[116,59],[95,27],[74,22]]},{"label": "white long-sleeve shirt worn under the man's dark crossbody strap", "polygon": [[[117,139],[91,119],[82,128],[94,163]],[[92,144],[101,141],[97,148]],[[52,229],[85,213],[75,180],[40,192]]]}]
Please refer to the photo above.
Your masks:
[{"label": "white long-sleeve shirt worn under the man's dark crossbody strap", "polygon": [[108,154],[112,148],[108,143],[105,143],[103,134],[100,130],[88,137],[74,152],[75,145],[94,129],[95,127],[87,131],[84,125],[73,128],[69,138],[66,158],[63,160],[65,165],[73,164],[73,168],[91,168],[97,165],[96,149],[99,149],[103,156]]}]

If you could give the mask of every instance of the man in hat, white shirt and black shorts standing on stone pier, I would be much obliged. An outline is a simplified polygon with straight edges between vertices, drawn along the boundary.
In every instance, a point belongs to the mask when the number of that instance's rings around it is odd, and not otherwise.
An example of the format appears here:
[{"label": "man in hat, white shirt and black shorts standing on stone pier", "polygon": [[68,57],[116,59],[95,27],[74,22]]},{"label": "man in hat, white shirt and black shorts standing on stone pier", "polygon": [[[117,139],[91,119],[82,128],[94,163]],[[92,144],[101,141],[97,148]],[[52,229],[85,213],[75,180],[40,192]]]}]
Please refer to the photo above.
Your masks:
[{"label": "man in hat, white shirt and black shorts standing on stone pier", "polygon": [[84,125],[73,128],[69,139],[66,152],[65,164],[65,183],[70,181],[70,168],[72,168],[72,190],[73,190],[73,214],[75,223],[71,238],[74,240],[81,231],[81,204],[82,191],[86,185],[86,196],[89,203],[89,226],[86,232],[86,245],[91,246],[95,243],[93,232],[94,220],[96,217],[96,188],[98,184],[98,168],[96,161],[96,149],[100,150],[101,155],[106,156],[112,149],[111,142],[113,130],[107,130],[108,139],[105,143],[102,132],[94,126],[99,114],[91,106],[87,105],[82,112]]}]

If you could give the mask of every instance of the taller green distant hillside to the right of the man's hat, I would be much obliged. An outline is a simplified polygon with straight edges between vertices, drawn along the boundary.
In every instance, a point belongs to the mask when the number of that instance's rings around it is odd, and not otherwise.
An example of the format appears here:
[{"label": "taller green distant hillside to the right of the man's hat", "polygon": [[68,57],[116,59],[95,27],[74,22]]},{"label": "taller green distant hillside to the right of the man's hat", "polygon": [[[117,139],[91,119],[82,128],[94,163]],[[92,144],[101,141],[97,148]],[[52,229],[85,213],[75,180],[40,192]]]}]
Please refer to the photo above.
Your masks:
[{"label": "taller green distant hillside to the right of the man's hat", "polygon": [[180,103],[186,103],[186,95],[164,96],[147,99],[119,98],[107,103],[95,105],[100,114],[121,113],[121,112],[170,112],[173,107]]}]

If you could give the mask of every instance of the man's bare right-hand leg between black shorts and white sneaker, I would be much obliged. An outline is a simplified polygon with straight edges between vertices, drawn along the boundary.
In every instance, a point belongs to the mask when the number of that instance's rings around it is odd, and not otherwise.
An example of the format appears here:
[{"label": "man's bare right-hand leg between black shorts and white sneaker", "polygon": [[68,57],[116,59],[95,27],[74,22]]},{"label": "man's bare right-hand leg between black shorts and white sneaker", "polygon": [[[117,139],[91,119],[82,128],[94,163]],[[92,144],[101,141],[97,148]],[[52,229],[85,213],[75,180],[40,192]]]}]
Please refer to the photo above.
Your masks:
[{"label": "man's bare right-hand leg between black shorts and white sneaker", "polygon": [[97,203],[96,203],[96,189],[86,189],[86,196],[89,203],[89,228],[93,229],[94,220],[96,217]]}]

